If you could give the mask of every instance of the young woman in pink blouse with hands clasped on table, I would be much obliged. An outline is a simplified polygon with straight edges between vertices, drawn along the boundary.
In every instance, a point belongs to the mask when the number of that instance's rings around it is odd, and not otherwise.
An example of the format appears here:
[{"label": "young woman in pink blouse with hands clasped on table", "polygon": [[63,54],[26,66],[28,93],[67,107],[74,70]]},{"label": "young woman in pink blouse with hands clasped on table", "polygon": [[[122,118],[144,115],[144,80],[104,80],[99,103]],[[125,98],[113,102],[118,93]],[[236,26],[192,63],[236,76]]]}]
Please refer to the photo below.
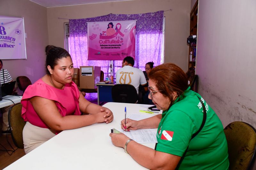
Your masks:
[{"label": "young woman in pink blouse with hands clasped on table", "polygon": [[[26,121],[23,143],[28,153],[62,130],[113,121],[106,107],[86,100],[72,81],[70,54],[63,48],[47,46],[46,75],[28,86],[23,94],[21,117]],[[86,113],[86,115],[81,115]]]}]

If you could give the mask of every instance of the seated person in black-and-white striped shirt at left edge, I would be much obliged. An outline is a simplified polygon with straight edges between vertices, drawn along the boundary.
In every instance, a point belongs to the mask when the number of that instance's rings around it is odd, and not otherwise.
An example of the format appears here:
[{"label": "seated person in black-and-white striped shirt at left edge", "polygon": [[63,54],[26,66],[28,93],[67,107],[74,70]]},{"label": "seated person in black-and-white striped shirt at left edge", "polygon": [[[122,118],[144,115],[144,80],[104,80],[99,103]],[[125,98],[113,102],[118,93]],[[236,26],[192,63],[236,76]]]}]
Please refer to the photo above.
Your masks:
[{"label": "seated person in black-and-white striped shirt at left edge", "polygon": [[[12,77],[9,71],[6,69],[3,69],[2,67],[3,67],[3,62],[2,60],[0,60],[0,85],[12,81]],[[8,112],[11,107],[12,105],[1,108],[1,111],[3,114],[3,127],[2,127],[3,135],[11,134],[11,129],[9,129],[9,123],[8,123]]]}]

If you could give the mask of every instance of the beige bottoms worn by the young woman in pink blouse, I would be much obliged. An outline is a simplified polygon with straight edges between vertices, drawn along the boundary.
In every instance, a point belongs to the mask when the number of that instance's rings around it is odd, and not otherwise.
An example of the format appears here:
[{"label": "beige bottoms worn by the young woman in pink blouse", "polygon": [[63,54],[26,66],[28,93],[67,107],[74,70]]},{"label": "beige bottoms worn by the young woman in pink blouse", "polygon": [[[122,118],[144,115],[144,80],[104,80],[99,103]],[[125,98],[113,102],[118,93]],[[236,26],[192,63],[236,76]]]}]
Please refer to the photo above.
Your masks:
[{"label": "beige bottoms worn by the young woman in pink blouse", "polygon": [[27,154],[55,136],[52,129],[40,128],[27,122],[23,129],[23,144]]}]

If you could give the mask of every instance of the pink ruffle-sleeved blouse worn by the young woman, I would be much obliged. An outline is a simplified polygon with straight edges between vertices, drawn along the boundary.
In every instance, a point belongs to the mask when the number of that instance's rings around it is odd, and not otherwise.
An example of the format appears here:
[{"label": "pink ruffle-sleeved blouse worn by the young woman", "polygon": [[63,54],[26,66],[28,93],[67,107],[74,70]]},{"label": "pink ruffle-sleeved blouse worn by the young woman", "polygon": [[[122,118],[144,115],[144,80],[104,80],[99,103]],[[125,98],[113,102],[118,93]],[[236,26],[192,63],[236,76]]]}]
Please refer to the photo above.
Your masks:
[{"label": "pink ruffle-sleeved blouse worn by the young woman", "polygon": [[60,115],[81,115],[79,110],[80,92],[76,84],[72,81],[65,85],[64,89],[60,90],[44,83],[40,78],[33,85],[29,85],[21,99],[22,111],[21,117],[24,121],[41,127],[49,128],[46,123],[37,115],[34,107],[30,103],[30,99],[34,96],[40,96],[49,100],[53,100],[60,112]]}]

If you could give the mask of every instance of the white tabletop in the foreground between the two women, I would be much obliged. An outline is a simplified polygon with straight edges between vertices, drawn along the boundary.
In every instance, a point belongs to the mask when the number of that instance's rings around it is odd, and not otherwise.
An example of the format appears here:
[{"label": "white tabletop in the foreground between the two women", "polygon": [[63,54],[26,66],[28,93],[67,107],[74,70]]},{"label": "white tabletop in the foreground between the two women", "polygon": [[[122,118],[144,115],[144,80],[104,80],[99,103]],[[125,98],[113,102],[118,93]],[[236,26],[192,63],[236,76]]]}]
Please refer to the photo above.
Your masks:
[{"label": "white tabletop in the foreground between the two women", "polygon": [[[114,146],[109,137],[110,129],[120,127],[125,106],[127,116],[134,113],[148,115],[139,112],[145,109],[140,104],[106,103],[104,107],[108,107],[114,114],[113,122],[64,130],[5,169],[146,169],[125,153],[123,148]],[[155,147],[154,143],[143,145],[153,149]]]}]

